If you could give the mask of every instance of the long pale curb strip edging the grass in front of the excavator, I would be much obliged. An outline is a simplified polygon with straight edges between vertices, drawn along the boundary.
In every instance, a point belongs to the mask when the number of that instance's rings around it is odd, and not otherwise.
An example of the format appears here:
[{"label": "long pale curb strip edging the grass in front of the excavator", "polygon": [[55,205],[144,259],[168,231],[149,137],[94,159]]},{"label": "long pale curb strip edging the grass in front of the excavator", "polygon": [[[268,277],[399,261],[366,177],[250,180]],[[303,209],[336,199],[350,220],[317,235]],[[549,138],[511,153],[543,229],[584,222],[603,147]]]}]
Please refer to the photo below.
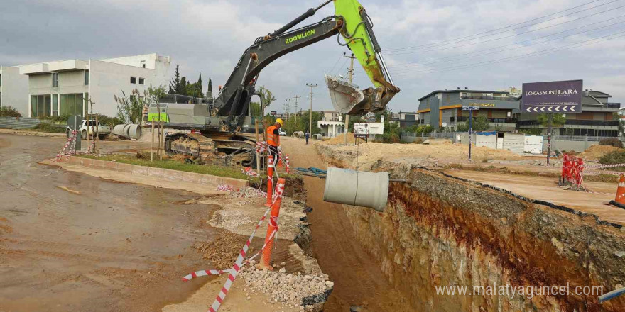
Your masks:
[{"label": "long pale curb strip edging the grass in front of the excavator", "polygon": [[106,160],[93,160],[90,158],[70,156],[69,161],[65,161],[63,156],[62,162],[70,165],[81,165],[85,167],[91,167],[95,169],[107,169],[116,172],[124,172],[128,174],[144,175],[148,177],[158,177],[161,179],[168,179],[172,181],[184,181],[195,184],[228,184],[234,187],[246,187],[249,186],[249,181],[242,179],[234,179],[228,177],[217,177],[210,174],[200,174],[195,172],[184,172],[172,169],[145,167],[138,165],[123,164],[119,162],[109,162]]}]

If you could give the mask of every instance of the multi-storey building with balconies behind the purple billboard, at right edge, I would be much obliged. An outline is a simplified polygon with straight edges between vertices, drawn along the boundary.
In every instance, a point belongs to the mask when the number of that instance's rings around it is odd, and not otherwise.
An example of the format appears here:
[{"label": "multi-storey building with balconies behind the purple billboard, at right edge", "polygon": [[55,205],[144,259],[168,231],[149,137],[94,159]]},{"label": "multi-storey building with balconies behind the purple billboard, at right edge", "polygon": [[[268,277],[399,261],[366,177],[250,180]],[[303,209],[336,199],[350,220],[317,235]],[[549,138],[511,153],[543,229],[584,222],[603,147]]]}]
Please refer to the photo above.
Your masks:
[{"label": "multi-storey building with balconies behind the purple billboard, at right edge", "polygon": [[[556,135],[589,135],[589,136],[619,136],[619,119],[614,114],[619,113],[620,103],[611,103],[612,96],[593,90],[582,92],[582,112],[565,114],[566,123],[562,128],[555,130]],[[545,126],[537,121],[536,114],[521,113],[518,115],[518,128],[540,129],[547,133]]]}]

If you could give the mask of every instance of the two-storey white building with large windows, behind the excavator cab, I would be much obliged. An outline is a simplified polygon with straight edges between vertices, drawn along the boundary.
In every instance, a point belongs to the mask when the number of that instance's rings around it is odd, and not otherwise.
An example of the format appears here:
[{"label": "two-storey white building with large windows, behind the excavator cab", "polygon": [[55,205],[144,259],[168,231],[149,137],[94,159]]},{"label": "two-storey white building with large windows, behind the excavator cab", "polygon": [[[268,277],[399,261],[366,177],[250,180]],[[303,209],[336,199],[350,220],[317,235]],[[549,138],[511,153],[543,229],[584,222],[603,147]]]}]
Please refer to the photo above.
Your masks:
[{"label": "two-storey white building with large windows, behind the excavator cab", "polygon": [[116,57],[107,60],[62,60],[22,65],[28,76],[28,106],[23,116],[85,116],[87,103],[93,112],[117,114],[114,95],[126,96],[133,89],[143,94],[150,86],[167,86],[170,57],[153,54]]}]

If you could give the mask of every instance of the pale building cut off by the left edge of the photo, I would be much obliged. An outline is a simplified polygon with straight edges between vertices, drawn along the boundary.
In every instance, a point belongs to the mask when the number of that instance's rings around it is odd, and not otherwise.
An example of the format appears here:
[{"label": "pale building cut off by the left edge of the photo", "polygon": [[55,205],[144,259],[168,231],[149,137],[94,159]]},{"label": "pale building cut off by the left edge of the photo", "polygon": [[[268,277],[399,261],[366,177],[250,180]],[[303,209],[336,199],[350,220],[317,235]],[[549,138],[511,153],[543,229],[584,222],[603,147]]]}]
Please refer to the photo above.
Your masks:
[{"label": "pale building cut off by the left edge of the photo", "polygon": [[28,77],[18,67],[0,66],[0,107],[13,106],[24,116],[28,111]]}]

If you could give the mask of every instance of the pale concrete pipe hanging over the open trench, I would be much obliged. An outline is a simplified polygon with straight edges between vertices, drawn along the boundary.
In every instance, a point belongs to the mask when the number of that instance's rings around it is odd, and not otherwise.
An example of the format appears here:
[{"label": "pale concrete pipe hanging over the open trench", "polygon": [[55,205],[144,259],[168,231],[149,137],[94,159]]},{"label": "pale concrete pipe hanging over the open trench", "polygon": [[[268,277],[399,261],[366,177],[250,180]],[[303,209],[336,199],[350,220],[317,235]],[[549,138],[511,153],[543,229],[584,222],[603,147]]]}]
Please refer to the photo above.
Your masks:
[{"label": "pale concrete pipe hanging over the open trench", "polygon": [[323,200],[384,212],[388,200],[388,172],[327,168]]}]

